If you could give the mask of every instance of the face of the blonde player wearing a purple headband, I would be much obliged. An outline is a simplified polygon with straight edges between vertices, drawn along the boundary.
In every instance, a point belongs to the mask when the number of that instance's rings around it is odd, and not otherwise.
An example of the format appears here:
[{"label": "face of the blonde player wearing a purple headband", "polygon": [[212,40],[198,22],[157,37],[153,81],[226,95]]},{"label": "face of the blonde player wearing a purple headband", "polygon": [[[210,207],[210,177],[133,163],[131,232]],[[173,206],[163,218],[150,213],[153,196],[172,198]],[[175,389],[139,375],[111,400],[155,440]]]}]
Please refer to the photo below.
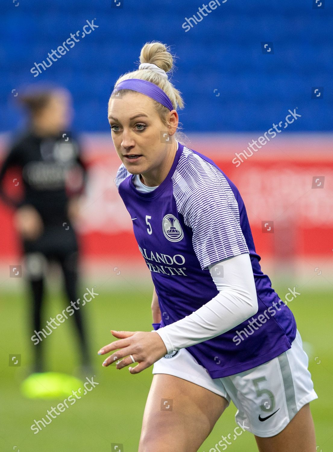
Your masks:
[{"label": "face of the blonde player wearing a purple headband", "polygon": [[[164,167],[177,148],[177,143],[172,140],[178,125],[176,110],[172,110],[167,118],[174,126],[166,127],[150,97],[127,93],[121,99],[110,98],[108,120],[114,147],[126,169],[131,174],[150,176],[150,180],[159,184],[159,174],[165,172]],[[163,137],[162,133],[161,138],[161,132],[167,135]]]}]

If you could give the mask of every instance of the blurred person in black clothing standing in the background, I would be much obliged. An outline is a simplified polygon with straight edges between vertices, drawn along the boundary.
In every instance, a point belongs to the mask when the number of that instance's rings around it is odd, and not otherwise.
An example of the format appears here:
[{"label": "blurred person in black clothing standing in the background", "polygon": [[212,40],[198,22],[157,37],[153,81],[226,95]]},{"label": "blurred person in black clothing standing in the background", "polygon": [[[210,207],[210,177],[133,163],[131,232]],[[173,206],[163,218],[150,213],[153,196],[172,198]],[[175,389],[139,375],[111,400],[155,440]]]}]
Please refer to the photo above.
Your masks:
[{"label": "blurred person in black clothing standing in the background", "polygon": [[[46,335],[52,333],[47,319],[42,319],[45,275],[50,261],[56,261],[61,267],[70,306],[67,317],[74,317],[80,341],[81,372],[84,372],[90,369],[91,363],[82,310],[77,306],[79,247],[73,224],[78,219],[86,170],[80,159],[80,147],[68,132],[71,96],[60,87],[34,85],[18,99],[27,110],[28,127],[11,145],[3,162],[0,197],[15,209],[14,225],[23,250],[23,274],[31,292],[29,337],[35,344],[33,372],[46,371],[44,342]],[[22,179],[20,200],[4,189],[5,175],[11,168],[18,169]]]}]

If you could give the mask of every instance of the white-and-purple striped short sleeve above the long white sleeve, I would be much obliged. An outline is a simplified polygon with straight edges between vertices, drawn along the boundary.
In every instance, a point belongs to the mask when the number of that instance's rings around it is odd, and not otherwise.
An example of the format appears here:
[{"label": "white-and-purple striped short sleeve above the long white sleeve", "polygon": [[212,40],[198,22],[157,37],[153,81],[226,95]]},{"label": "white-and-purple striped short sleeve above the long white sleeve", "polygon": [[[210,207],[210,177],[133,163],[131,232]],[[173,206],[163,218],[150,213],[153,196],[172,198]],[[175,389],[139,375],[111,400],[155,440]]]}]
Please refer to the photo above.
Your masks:
[{"label": "white-and-purple striped short sleeve above the long white sleeve", "polygon": [[249,253],[235,195],[221,171],[194,153],[183,155],[174,174],[178,212],[192,229],[201,268]]}]

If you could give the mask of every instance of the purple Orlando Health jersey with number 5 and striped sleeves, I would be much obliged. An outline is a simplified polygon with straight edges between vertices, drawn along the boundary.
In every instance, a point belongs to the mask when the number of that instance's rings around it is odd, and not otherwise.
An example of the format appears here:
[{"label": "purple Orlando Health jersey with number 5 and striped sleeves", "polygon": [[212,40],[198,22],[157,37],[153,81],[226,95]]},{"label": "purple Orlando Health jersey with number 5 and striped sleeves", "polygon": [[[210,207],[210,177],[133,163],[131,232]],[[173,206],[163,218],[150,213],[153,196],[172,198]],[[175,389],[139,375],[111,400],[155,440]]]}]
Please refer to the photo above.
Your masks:
[{"label": "purple Orlando Health jersey with number 5 and striped sleeves", "polygon": [[[223,171],[205,155],[178,143],[169,174],[154,191],[141,193],[132,177],[121,165],[116,184],[158,296],[162,320],[153,324],[154,329],[183,319],[216,297],[219,292],[208,265],[249,253],[259,307],[253,319],[262,315],[265,322],[250,328],[246,320],[187,349],[212,378],[221,378],[291,348],[294,316],[281,301],[277,305],[280,298],[261,271],[244,202]],[[237,332],[244,328],[248,334],[241,340]]]}]

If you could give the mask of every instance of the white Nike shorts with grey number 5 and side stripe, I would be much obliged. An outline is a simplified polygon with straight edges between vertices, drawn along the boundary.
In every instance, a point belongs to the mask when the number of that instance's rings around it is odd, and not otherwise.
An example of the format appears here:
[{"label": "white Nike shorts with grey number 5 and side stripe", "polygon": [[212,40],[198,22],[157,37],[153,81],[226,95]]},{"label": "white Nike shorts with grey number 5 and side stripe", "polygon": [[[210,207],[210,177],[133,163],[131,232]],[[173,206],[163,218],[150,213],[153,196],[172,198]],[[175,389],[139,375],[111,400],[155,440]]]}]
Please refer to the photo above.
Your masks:
[{"label": "white Nike shorts with grey number 5 and side stripe", "polygon": [[280,433],[308,402],[317,399],[309,358],[297,330],[291,348],[267,363],[230,377],[211,378],[186,348],[154,363],[153,374],[166,373],[219,394],[236,406],[235,420],[259,437]]}]

